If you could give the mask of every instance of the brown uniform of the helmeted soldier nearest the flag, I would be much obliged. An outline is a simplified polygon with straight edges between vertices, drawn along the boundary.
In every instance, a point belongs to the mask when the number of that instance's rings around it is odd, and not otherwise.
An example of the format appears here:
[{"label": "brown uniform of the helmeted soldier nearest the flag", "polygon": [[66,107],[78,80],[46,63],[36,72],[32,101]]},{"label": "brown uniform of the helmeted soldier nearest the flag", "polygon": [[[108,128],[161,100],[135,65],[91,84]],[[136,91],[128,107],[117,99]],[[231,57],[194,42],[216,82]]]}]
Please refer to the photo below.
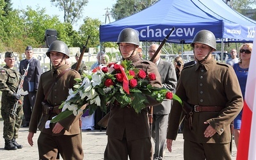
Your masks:
[{"label": "brown uniform of the helmeted soldier nearest the flag", "polygon": [[[220,112],[196,113],[193,111],[193,129],[191,131],[189,130],[188,119],[184,119],[184,159],[191,156],[186,154],[189,150],[202,150],[198,147],[190,147],[189,149],[186,147],[186,141],[192,141],[200,145],[218,144],[212,145],[212,150],[209,152],[215,153],[215,155],[212,154],[207,159],[219,159],[218,156],[222,158],[223,155],[227,154],[230,156],[227,150],[223,150],[223,152],[216,150],[221,148],[222,145],[229,145],[231,140],[230,123],[243,107],[243,97],[234,69],[226,64],[217,63],[213,57],[204,65],[196,63],[196,65],[185,67],[181,72],[176,94],[180,99],[191,104],[191,109],[194,109],[192,106],[195,105],[223,107]],[[179,102],[173,100],[168,122],[168,139],[176,139],[181,113],[182,106]],[[204,137],[204,131],[208,127],[208,124],[204,124],[206,121],[216,130],[216,134],[209,138]],[[196,153],[193,156],[196,157]],[[205,153],[205,156],[207,156],[207,153]]]}]

